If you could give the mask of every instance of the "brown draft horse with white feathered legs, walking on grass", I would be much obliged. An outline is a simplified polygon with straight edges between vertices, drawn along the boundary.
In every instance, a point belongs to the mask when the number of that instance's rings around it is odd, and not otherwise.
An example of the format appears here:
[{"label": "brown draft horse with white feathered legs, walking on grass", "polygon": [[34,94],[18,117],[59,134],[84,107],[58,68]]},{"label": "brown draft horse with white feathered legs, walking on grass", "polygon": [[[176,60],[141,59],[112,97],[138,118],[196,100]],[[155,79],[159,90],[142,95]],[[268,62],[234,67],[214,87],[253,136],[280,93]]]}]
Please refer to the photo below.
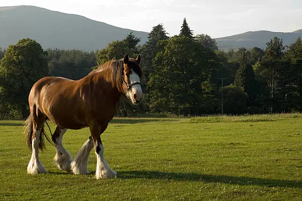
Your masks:
[{"label": "brown draft horse with white feathered legs, walking on grass", "polygon": [[[59,77],[38,80],[29,94],[30,116],[25,124],[27,144],[33,151],[27,172],[47,172],[39,161],[38,148],[44,148],[43,125],[49,119],[57,125],[52,142],[56,150],[54,162],[60,169],[87,174],[88,157],[94,146],[96,178],[115,177],[116,172],[104,159],[101,134],[112,120],[120,97],[126,96],[133,104],[142,100],[141,80],[144,75],[140,61],[140,55],[129,59],[126,54],[123,59],[109,61],[80,80]],[[73,161],[63,147],[62,138],[67,129],[84,127],[89,127],[91,136]]]}]

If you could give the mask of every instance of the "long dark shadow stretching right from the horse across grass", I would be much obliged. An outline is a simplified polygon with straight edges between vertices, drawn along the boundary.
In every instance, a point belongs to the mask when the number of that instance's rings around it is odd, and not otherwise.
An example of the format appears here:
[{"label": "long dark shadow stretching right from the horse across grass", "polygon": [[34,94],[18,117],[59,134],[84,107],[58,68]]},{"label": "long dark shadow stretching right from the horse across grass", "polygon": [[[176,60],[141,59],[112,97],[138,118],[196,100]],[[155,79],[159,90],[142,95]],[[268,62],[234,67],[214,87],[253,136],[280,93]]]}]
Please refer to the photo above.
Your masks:
[{"label": "long dark shadow stretching right from the horse across grass", "polygon": [[176,172],[157,172],[157,171],[119,171],[118,178],[141,178],[141,179],[166,179],[181,181],[202,181],[207,183],[225,183],[233,185],[260,185],[267,187],[293,187],[301,188],[301,181],[263,179],[255,177],[236,177],[225,175],[195,174],[195,173],[176,173]]}]

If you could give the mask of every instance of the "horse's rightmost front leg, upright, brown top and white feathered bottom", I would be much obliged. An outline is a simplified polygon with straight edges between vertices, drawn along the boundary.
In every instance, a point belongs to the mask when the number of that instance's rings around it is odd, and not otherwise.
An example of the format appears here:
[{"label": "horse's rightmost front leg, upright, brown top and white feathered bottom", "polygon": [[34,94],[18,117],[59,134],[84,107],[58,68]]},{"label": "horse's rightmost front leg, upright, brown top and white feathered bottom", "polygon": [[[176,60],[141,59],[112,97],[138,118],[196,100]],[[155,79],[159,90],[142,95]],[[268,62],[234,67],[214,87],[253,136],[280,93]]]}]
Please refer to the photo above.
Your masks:
[{"label": "horse's rightmost front leg, upright, brown top and white feathered bottom", "polygon": [[109,164],[104,159],[104,146],[101,141],[101,134],[106,130],[108,124],[99,126],[90,126],[90,132],[94,143],[95,154],[97,157],[97,167],[96,167],[96,178],[113,178],[116,176],[116,172],[112,170]]}]

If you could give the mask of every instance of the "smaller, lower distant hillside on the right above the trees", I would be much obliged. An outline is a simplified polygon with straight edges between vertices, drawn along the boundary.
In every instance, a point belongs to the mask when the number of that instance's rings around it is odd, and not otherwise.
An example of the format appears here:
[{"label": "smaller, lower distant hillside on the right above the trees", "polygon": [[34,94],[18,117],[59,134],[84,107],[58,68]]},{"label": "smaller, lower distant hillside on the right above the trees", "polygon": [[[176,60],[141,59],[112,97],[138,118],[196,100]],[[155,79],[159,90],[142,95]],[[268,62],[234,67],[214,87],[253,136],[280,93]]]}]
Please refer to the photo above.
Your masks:
[{"label": "smaller, lower distant hillside on the right above the trees", "polygon": [[270,41],[275,36],[282,39],[284,45],[289,45],[294,43],[298,37],[302,37],[302,29],[291,33],[269,31],[246,32],[215,40],[217,41],[218,48],[225,50],[230,48],[238,49],[239,47],[250,49],[255,46],[265,49],[266,42]]}]

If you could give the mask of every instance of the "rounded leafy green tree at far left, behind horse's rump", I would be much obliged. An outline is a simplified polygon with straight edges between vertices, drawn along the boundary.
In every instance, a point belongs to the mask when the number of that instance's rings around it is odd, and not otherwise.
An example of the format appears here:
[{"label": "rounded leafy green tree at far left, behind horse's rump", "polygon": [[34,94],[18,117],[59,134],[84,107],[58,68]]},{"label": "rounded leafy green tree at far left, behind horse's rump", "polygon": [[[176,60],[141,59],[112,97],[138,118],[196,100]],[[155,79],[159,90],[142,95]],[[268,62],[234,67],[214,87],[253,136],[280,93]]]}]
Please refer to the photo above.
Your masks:
[{"label": "rounded leafy green tree at far left, behind horse's rump", "polygon": [[1,101],[19,108],[22,118],[28,116],[28,95],[33,84],[49,75],[46,52],[29,38],[9,45],[0,64]]}]

